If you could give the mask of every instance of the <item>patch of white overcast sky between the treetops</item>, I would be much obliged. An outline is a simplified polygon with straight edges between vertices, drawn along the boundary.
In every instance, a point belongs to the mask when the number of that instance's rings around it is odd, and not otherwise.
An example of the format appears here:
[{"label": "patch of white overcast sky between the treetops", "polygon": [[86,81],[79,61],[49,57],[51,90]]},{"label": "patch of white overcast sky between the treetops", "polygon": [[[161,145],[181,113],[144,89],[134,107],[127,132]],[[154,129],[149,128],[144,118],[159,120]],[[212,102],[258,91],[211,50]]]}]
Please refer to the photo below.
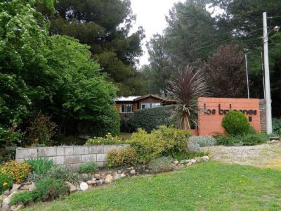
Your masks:
[{"label": "patch of white overcast sky between the treetops", "polygon": [[136,32],[138,27],[142,26],[146,36],[143,39],[143,56],[140,58],[140,66],[148,64],[146,41],[149,41],[153,34],[162,34],[166,27],[165,15],[169,14],[169,9],[178,1],[184,2],[184,0],[131,0],[131,8],[136,14],[136,24],[133,25],[131,31]]}]

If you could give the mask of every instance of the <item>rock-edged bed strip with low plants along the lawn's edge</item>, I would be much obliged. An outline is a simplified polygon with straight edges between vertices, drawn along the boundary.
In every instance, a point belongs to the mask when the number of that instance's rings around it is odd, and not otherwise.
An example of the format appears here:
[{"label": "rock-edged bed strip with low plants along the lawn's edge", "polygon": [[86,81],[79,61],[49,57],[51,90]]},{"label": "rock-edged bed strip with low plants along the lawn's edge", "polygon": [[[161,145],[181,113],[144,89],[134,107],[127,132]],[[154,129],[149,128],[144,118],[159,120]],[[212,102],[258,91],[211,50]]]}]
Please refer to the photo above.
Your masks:
[{"label": "rock-edged bed strip with low plants along the lawn's edge", "polygon": [[[163,172],[163,171],[178,170],[178,169],[182,169],[183,167],[189,167],[191,165],[195,165],[198,162],[207,162],[207,161],[209,161],[208,156],[203,156],[201,158],[197,157],[195,159],[190,159],[190,160],[181,160],[181,161],[174,160],[171,162],[171,165],[169,165],[169,170],[160,169],[158,171]],[[70,181],[64,181],[64,182],[65,184],[67,184],[69,188],[68,192],[74,193],[76,191],[86,191],[96,186],[103,186],[106,184],[110,184],[112,181],[116,181],[124,177],[132,177],[135,175],[152,174],[152,173],[155,173],[155,169],[153,169],[151,165],[137,165],[136,167],[123,167],[119,169],[102,169],[96,172],[96,174],[91,174],[91,175],[86,174],[84,175],[84,177],[80,177],[80,178],[84,178],[84,181],[79,181],[78,184],[72,184]],[[83,174],[81,176],[83,176]],[[86,178],[88,178],[88,180]],[[58,180],[52,180],[51,177],[50,178],[47,177],[47,179],[42,179],[41,182],[39,181],[39,185],[40,185],[39,188],[41,189],[42,184],[46,186],[45,183],[48,184],[56,181]],[[48,185],[50,186],[51,184]],[[21,210],[24,207],[30,207],[34,205],[34,200],[32,196],[30,196],[30,194],[31,195],[34,193],[35,195],[38,194],[37,189],[38,189],[37,185],[34,184],[33,182],[32,184],[28,184],[27,182],[22,184],[13,184],[12,188],[9,188],[6,191],[4,191],[4,193],[0,196],[2,201],[2,203],[0,203],[0,207],[2,207],[2,210],[10,210],[10,209]],[[42,190],[40,190],[39,193],[41,191]],[[50,189],[47,188],[46,191],[48,193]],[[58,192],[60,192],[60,190]],[[24,193],[24,194],[20,196],[19,195],[20,193]],[[26,193],[30,193],[30,194],[26,194]],[[46,193],[41,193],[41,194],[43,194],[43,196],[41,196],[43,198],[46,195]],[[49,200],[49,197],[51,198],[58,197],[58,196],[52,196],[52,194],[55,195],[57,193],[51,192],[48,194],[50,196],[45,197],[45,200],[47,201]]]}]

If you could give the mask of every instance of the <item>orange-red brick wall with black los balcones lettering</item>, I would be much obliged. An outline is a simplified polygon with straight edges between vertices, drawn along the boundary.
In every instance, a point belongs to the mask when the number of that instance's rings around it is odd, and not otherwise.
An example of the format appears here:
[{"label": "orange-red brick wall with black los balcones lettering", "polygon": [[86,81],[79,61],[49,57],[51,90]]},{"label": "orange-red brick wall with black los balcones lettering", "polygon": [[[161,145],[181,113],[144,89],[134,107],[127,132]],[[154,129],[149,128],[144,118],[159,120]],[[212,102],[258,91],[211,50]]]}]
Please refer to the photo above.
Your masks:
[{"label": "orange-red brick wall with black los balcones lettering", "polygon": [[261,132],[259,99],[248,98],[198,98],[201,112],[198,116],[199,135],[224,132],[221,121],[228,110],[240,110],[257,132]]}]

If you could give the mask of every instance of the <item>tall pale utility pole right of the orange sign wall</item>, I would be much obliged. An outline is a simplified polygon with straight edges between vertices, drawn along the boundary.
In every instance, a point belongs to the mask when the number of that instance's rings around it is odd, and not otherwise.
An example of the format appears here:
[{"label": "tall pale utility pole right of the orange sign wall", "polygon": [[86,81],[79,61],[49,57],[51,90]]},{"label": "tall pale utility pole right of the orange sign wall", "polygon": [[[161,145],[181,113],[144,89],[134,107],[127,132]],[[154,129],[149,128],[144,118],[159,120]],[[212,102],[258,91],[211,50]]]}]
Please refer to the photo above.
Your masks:
[{"label": "tall pale utility pole right of the orange sign wall", "polygon": [[268,61],[268,23],[266,12],[263,12],[263,51],[264,51],[264,76],[266,85],[266,133],[272,133],[272,116],[271,116],[271,97],[270,97],[270,76]]}]

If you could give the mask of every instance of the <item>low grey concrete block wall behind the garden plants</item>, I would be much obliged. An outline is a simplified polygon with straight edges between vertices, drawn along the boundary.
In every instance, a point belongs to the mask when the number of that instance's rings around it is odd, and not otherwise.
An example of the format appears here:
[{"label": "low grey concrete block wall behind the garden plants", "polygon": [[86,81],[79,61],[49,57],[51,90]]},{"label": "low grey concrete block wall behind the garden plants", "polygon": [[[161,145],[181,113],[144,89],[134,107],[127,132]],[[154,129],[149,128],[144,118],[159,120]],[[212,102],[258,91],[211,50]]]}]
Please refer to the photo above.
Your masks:
[{"label": "low grey concrete block wall behind the garden plants", "polygon": [[53,146],[35,148],[17,148],[15,160],[23,162],[30,158],[46,157],[53,160],[55,165],[68,165],[77,168],[81,163],[96,162],[103,167],[106,164],[107,152],[112,149],[128,147],[121,145],[98,145],[98,146]]}]

